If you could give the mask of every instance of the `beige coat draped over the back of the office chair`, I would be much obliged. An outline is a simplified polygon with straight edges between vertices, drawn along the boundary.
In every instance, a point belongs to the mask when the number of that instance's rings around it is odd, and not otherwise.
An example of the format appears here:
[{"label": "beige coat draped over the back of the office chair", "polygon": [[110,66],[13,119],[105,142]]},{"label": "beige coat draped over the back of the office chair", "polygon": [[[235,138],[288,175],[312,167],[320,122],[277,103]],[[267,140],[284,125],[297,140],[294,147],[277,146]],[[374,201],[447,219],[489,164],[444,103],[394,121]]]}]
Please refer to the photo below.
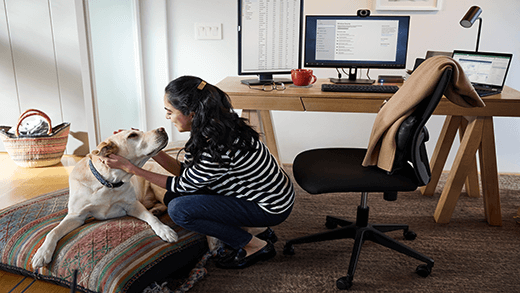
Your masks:
[{"label": "beige coat draped over the back of the office chair", "polygon": [[377,114],[363,166],[392,170],[396,149],[395,135],[399,126],[423,99],[433,93],[447,67],[453,69],[453,74],[444,95],[462,107],[485,106],[460,64],[446,56],[428,58]]}]

